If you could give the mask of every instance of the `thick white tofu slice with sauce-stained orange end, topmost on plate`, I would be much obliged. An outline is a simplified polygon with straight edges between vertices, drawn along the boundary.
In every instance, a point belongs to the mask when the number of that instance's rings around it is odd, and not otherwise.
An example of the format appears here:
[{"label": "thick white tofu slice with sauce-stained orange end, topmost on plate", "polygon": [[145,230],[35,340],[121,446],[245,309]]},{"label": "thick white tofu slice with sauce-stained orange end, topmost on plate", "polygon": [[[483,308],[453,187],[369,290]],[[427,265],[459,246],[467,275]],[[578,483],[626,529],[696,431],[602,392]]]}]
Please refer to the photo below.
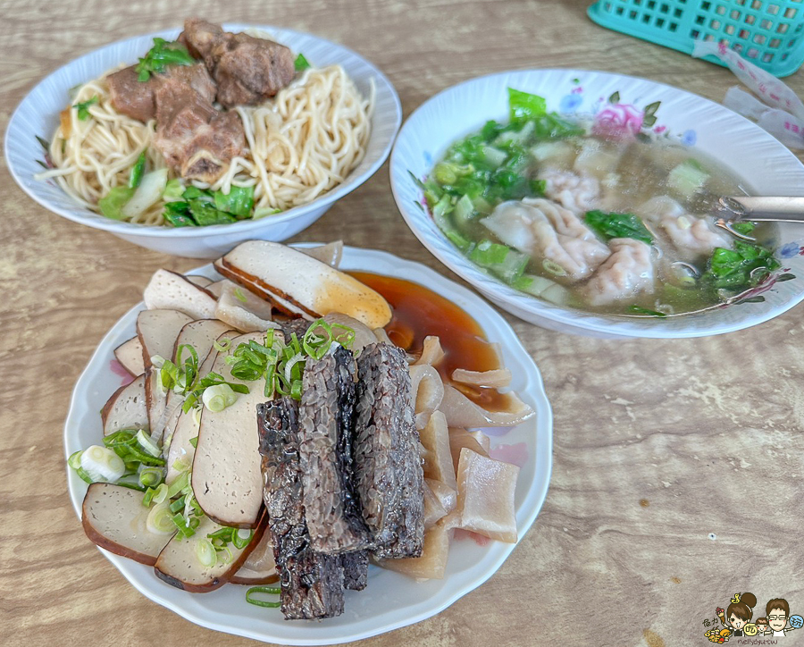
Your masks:
[{"label": "thick white tofu slice with sauce-stained orange end, topmost on plate", "polygon": [[341,312],[381,328],[390,321],[388,302],[347,273],[297,249],[266,240],[247,240],[215,261],[218,272],[267,296],[290,315],[315,319]]}]

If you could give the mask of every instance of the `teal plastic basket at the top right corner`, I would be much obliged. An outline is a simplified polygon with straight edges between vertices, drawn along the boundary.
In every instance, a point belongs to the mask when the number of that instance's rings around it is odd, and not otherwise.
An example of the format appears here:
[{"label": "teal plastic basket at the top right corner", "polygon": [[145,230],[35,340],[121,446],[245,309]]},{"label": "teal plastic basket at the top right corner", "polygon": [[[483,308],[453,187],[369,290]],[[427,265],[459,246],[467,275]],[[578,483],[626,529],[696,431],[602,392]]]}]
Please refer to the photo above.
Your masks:
[{"label": "teal plastic basket at the top right corner", "polygon": [[804,63],[804,0],[599,0],[589,17],[687,54],[699,39],[724,43],[775,76]]}]

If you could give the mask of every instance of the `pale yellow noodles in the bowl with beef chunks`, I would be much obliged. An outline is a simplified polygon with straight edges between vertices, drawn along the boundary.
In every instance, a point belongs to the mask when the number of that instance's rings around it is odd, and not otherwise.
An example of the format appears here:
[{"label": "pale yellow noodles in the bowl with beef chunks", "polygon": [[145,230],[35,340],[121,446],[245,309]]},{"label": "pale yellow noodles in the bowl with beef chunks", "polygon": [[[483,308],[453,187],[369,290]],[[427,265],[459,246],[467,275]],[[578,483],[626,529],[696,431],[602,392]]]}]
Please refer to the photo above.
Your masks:
[{"label": "pale yellow noodles in the bowl with beef chunks", "polygon": [[[86,120],[80,120],[75,110],[63,114],[50,145],[54,169],[37,176],[54,179],[93,211],[111,189],[127,185],[143,150],[150,168],[166,165],[152,146],[155,120],[146,124],[115,111],[105,76],[78,89],[74,104],[98,100],[88,107]],[[305,205],[344,181],[360,164],[371,135],[373,104],[373,86],[371,96],[362,97],[340,65],[308,68],[264,104],[236,107],[246,133],[245,155],[235,157],[213,185],[192,183],[224,193],[232,185],[253,186],[255,213]],[[157,202],[131,222],[164,224],[163,205]]]}]

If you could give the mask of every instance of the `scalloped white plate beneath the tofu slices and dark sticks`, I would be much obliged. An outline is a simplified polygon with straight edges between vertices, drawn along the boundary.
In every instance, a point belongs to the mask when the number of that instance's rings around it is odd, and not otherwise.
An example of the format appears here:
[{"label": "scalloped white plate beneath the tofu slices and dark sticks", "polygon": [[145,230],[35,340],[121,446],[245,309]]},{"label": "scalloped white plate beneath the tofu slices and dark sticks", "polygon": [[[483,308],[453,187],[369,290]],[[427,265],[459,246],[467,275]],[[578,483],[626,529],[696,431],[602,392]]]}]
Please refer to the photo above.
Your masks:
[{"label": "scalloped white plate beneath the tofu slices and dark sticks", "polygon": [[[505,365],[514,375],[512,388],[536,411],[536,416],[491,437],[492,456],[498,452],[522,456],[522,471],[516,486],[516,523],[522,538],[539,513],[547,494],[552,451],[552,415],[539,369],[517,339],[515,332],[482,298],[448,281],[418,263],[371,249],[345,248],[341,269],[364,270],[415,281],[465,309],[480,323],[489,340],[498,342]],[[212,265],[192,273],[213,278]],[[121,384],[113,370],[113,349],[135,335],[135,321],[143,304],[131,308],[114,324],[89,360],[72,394],[64,426],[65,457],[94,444],[102,437],[98,411]],[[68,468],[70,497],[80,516],[87,484]],[[505,561],[515,544],[489,542],[480,546],[471,539],[454,540],[450,546],[447,576],[417,584],[406,576],[371,567],[368,587],[346,592],[346,610],[339,618],[322,622],[286,621],[279,609],[248,604],[247,587],[226,584],[210,593],[188,593],[164,584],[154,569],[101,550],[122,575],[151,600],[172,609],[182,618],[230,634],[289,645],[346,643],[430,618],[465,593],[480,586]]]}]

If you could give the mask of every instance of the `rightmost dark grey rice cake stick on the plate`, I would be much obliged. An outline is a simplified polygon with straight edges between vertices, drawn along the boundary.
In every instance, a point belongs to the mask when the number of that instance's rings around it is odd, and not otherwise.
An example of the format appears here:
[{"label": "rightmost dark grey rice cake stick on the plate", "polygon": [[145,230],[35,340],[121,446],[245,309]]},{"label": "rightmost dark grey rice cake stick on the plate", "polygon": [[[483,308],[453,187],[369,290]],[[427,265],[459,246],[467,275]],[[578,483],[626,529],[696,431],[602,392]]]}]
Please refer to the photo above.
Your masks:
[{"label": "rightmost dark grey rice cake stick on the plate", "polygon": [[357,374],[355,484],[374,552],[419,557],[424,475],[405,351],[370,344],[357,358]]}]

